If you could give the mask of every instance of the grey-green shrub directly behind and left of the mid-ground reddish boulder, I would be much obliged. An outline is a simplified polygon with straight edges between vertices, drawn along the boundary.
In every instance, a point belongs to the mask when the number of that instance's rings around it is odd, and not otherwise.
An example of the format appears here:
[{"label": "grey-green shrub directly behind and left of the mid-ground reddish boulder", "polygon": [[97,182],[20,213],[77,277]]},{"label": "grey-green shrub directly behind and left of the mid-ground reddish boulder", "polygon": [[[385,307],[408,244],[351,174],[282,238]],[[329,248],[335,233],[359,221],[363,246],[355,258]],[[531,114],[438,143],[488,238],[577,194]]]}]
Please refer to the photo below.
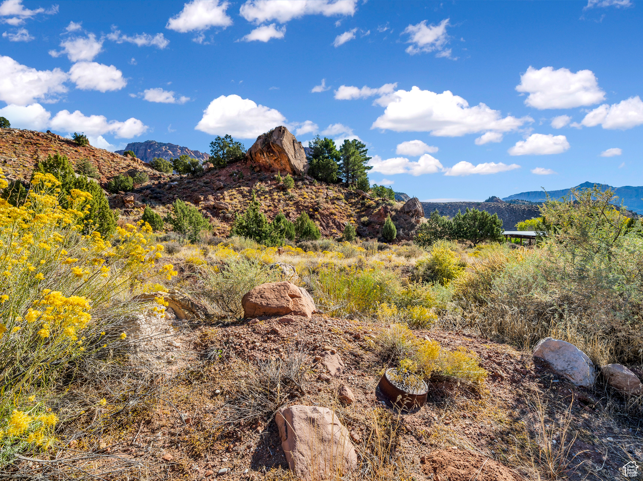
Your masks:
[{"label": "grey-green shrub directly behind and left of the mid-ground reddish boulder", "polygon": [[231,256],[216,268],[205,268],[199,275],[204,299],[215,311],[235,317],[243,314],[241,298],[246,292],[260,284],[281,280],[276,269],[245,256]]}]

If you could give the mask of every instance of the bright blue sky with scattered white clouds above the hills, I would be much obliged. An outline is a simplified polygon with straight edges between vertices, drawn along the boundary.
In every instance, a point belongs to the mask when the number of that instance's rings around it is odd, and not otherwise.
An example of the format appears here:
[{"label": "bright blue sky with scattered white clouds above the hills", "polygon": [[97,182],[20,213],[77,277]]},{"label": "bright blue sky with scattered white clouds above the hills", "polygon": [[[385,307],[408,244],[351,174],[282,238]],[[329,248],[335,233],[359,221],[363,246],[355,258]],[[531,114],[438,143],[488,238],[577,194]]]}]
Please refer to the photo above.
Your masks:
[{"label": "bright blue sky with scattered white clouds above the hills", "polygon": [[421,200],[643,185],[643,14],[581,2],[5,0],[0,116],[209,152],[286,125]]}]

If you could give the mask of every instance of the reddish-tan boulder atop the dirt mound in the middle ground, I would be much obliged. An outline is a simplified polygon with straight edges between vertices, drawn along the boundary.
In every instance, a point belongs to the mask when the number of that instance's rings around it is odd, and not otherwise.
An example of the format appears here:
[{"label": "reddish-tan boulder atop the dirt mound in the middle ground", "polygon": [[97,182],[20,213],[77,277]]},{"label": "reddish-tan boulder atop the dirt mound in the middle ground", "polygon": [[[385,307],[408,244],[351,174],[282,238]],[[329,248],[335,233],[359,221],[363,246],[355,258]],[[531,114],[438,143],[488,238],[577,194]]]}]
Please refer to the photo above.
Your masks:
[{"label": "reddish-tan boulder atop the dirt mound in the middle ground", "polygon": [[245,317],[293,314],[311,319],[315,303],[303,288],[291,282],[261,284],[241,299]]}]

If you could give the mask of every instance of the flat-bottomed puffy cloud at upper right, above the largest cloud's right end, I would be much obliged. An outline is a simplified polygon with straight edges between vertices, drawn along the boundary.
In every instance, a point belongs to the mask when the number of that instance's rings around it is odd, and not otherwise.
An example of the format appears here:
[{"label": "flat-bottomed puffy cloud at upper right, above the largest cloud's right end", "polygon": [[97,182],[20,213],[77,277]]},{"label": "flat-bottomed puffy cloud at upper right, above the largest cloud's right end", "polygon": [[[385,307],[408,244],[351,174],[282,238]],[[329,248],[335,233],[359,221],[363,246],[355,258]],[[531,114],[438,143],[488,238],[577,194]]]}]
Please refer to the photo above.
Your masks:
[{"label": "flat-bottomed puffy cloud at upper right, above the largest cloud's right end", "polygon": [[591,70],[572,73],[569,69],[554,70],[529,67],[520,76],[518,92],[529,93],[525,105],[536,109],[572,109],[605,100],[605,92],[598,85]]}]

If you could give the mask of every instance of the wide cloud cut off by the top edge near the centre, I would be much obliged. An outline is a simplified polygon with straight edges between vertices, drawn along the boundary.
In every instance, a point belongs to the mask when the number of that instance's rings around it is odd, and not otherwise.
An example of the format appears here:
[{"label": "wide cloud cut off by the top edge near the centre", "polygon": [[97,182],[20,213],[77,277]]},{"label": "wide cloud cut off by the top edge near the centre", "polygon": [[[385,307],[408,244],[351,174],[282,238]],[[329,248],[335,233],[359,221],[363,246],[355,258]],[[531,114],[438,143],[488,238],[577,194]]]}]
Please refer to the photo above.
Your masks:
[{"label": "wide cloud cut off by the top edge near the centre", "polygon": [[303,15],[354,15],[357,0],[254,0],[246,1],[239,13],[249,22],[260,24],[275,20],[280,23],[298,19]]}]

